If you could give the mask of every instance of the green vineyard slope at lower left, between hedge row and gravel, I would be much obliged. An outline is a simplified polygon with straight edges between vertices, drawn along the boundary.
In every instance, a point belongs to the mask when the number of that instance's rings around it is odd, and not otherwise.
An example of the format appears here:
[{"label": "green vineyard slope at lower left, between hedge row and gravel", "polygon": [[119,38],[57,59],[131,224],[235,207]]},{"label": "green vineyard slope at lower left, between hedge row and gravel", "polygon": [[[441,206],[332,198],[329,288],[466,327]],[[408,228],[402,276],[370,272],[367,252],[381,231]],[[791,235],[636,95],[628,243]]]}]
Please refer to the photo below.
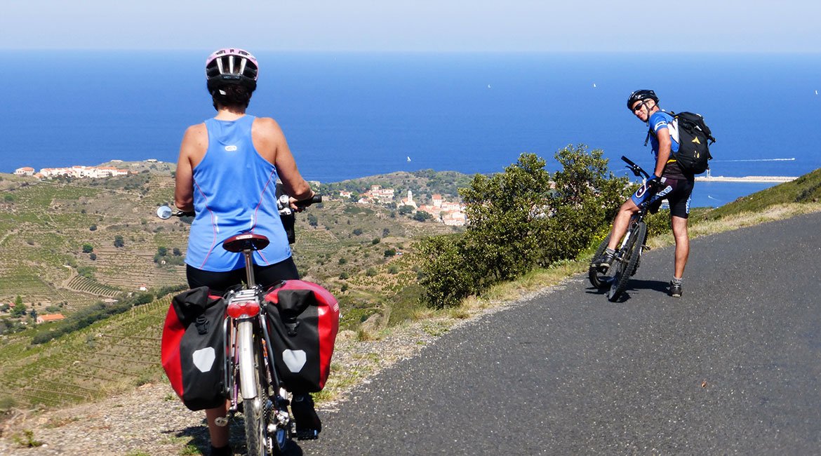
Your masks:
[{"label": "green vineyard slope at lower left, between hedge row and gravel", "polygon": [[46,345],[11,336],[0,345],[0,397],[19,405],[62,406],[128,390],[162,374],[160,337],[170,298],[100,321]]}]

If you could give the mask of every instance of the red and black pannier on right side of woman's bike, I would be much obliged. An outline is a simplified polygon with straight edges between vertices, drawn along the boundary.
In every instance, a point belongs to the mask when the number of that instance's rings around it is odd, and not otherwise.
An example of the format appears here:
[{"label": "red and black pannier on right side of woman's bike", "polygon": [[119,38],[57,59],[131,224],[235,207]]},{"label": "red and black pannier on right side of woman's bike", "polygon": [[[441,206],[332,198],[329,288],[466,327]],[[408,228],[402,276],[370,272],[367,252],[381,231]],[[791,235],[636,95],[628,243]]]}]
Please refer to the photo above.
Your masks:
[{"label": "red and black pannier on right side of woman's bike", "polygon": [[322,390],[331,372],[339,303],[305,280],[285,280],[265,292],[268,332],[282,382],[291,393]]}]

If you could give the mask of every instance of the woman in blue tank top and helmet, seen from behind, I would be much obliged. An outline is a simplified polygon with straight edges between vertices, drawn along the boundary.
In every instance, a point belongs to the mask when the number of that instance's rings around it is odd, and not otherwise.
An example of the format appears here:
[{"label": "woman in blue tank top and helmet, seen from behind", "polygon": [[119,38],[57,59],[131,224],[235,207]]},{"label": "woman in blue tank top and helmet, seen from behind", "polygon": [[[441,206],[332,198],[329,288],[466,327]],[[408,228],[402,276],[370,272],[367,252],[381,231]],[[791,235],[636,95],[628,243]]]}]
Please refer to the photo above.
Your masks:
[{"label": "woman in blue tank top and helmet, seen from behind", "polygon": [[[241,233],[265,235],[270,244],[254,253],[257,282],[299,279],[277,211],[276,182],[282,180],[291,203],[312,198],[310,185],[296,168],[285,135],[270,117],[245,114],[257,84],[259,66],[250,52],[225,48],[205,62],[207,87],[217,115],[186,130],[177,162],[174,203],[196,213],[186,253],[190,288],[208,286],[223,294],[245,278],[241,253],[222,249],[222,241]],[[299,210],[292,204],[292,208]],[[297,431],[321,429],[310,394],[295,394],[291,411]],[[224,407],[205,411],[211,454],[232,454]]]}]

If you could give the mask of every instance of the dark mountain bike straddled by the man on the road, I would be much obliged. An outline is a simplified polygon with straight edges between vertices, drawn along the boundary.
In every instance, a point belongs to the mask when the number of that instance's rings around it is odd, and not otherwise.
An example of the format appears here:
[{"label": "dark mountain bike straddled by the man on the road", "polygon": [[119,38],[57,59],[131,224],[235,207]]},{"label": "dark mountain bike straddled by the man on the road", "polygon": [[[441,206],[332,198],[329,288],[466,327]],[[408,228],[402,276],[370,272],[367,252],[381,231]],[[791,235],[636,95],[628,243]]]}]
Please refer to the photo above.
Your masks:
[{"label": "dark mountain bike straddled by the man on the road", "polygon": [[[627,157],[621,157],[621,160],[627,163],[626,168],[630,170],[636,177],[640,177],[642,185],[647,184],[649,175],[641,166],[636,165]],[[649,250],[649,247],[644,245],[647,240],[647,223],[644,222],[644,216],[647,214],[647,208],[657,198],[648,198],[644,203],[639,204],[639,211],[631,218],[630,225],[627,228],[627,233],[621,239],[621,243],[616,249],[616,257],[613,259],[612,265],[606,272],[600,271],[599,268],[594,267],[593,262],[599,258],[604,250],[607,249],[610,243],[610,235],[599,244],[599,248],[594,253],[593,260],[590,262],[588,270],[588,278],[590,284],[599,290],[608,289],[608,300],[617,300],[624,290],[627,288],[627,281],[635,272],[639,270],[641,261],[641,253],[644,250]]]}]

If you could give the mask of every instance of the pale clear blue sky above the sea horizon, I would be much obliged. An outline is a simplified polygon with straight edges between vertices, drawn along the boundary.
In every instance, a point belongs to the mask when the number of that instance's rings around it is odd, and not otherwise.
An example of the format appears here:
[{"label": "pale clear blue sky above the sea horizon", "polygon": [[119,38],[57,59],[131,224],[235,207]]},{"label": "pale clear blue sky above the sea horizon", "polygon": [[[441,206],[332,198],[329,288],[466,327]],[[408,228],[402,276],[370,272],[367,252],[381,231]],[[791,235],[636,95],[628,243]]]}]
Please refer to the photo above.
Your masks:
[{"label": "pale clear blue sky above the sea horizon", "polygon": [[0,48],[821,52],[819,24],[819,0],[5,0]]}]

